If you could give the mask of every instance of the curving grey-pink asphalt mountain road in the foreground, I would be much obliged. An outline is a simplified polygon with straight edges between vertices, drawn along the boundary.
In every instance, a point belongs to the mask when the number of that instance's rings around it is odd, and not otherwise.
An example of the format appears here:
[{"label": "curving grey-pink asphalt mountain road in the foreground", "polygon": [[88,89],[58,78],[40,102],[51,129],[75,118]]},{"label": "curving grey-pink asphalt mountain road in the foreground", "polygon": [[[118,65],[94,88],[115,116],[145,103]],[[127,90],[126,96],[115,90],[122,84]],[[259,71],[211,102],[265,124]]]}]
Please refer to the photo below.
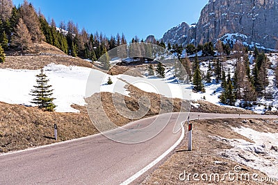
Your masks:
[{"label": "curving grey-pink asphalt mountain road in the foreground", "polygon": [[[199,116],[198,116],[199,115]],[[101,134],[34,150],[0,156],[0,184],[120,184],[168,150],[181,136],[173,134],[175,123],[187,114],[162,114],[126,125],[143,128],[152,121],[170,119],[148,141],[124,144]],[[190,113],[190,119],[278,118],[278,116]],[[156,127],[145,134],[159,132]],[[129,136],[129,139],[132,136]]]}]

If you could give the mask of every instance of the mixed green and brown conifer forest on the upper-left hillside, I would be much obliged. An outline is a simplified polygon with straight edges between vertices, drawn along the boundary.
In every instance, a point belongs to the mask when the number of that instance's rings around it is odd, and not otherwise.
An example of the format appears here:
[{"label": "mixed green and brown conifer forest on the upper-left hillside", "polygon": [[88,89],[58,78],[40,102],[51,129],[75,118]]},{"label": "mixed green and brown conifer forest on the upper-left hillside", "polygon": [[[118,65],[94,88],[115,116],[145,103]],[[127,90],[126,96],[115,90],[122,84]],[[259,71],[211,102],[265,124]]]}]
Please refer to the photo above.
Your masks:
[{"label": "mixed green and brown conifer forest on the upper-left hillside", "polygon": [[[106,37],[102,33],[88,34],[73,21],[47,21],[28,1],[18,7],[11,0],[0,1],[0,44],[4,51],[25,51],[42,41],[56,46],[74,57],[96,60],[109,49],[126,44],[124,34]],[[0,51],[1,52],[1,51]]]}]

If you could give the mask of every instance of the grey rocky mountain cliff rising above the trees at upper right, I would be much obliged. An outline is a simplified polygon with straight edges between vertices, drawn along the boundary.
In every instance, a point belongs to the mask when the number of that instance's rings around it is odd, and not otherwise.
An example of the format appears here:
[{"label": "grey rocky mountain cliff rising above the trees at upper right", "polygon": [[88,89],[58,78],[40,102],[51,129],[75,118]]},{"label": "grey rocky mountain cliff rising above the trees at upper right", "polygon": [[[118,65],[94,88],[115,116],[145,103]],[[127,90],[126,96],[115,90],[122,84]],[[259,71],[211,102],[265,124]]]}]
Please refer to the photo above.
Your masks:
[{"label": "grey rocky mountain cliff rising above the trees at upper right", "polygon": [[[186,45],[239,39],[251,46],[275,49],[278,41],[277,1],[209,0],[195,27],[172,28],[165,33],[163,41]],[[183,31],[178,33],[176,30],[179,29]]]}]

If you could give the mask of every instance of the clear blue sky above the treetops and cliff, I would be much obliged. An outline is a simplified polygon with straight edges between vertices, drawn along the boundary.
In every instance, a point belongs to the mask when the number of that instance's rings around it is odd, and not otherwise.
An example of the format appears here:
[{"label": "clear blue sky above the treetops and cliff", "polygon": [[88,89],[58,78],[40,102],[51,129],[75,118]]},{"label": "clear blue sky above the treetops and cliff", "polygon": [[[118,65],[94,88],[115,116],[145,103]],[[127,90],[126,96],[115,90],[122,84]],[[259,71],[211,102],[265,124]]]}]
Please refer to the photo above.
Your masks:
[{"label": "clear blue sky above the treetops and cliff", "polygon": [[[13,0],[19,5],[24,0]],[[124,33],[128,41],[137,35],[145,39],[155,35],[160,39],[170,28],[185,21],[198,21],[202,8],[208,0],[28,0],[47,19],[72,20],[79,29],[88,33],[104,33],[106,36]]]}]

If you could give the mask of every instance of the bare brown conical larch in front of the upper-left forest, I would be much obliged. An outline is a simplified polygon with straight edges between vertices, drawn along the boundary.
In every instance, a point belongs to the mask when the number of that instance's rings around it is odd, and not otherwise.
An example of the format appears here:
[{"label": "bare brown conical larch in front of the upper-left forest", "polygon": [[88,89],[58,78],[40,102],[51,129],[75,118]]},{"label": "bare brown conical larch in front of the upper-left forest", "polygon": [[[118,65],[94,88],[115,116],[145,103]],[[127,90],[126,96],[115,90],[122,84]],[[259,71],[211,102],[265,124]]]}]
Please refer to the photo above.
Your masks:
[{"label": "bare brown conical larch in front of the upper-left forest", "polygon": [[20,18],[17,26],[15,27],[15,34],[13,34],[11,45],[19,47],[22,51],[24,51],[24,49],[28,49],[31,44],[31,35],[29,34],[24,21]]}]

